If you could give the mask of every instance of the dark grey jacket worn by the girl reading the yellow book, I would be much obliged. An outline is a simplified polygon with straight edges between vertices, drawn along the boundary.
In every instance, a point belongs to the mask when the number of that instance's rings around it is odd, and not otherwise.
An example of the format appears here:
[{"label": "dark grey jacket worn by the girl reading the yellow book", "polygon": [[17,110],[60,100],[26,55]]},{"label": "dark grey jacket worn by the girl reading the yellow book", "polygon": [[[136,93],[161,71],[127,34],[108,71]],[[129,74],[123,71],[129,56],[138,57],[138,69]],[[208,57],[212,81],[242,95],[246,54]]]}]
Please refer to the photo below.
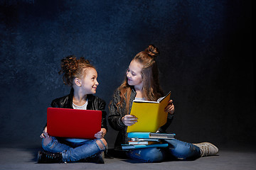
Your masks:
[{"label": "dark grey jacket worn by the girl reading the yellow book", "polygon": [[[131,97],[129,99],[129,112],[131,112],[132,109],[132,102],[134,101],[134,98],[136,96],[136,91],[132,89]],[[126,115],[127,109],[126,109],[126,103],[125,101],[122,103],[122,108],[119,107],[117,109],[117,103],[121,100],[120,97],[120,91],[114,91],[114,96],[112,98],[112,101],[110,102],[110,115],[108,117],[110,126],[114,129],[119,131],[117,134],[117,139],[114,142],[114,148],[115,149],[121,149],[122,144],[128,144],[129,138],[127,137],[127,126],[122,123],[122,117]],[[165,130],[169,127],[171,124],[171,121],[173,120],[173,115],[168,114],[167,123],[163,125],[161,128],[159,128],[158,132],[165,132]]]}]

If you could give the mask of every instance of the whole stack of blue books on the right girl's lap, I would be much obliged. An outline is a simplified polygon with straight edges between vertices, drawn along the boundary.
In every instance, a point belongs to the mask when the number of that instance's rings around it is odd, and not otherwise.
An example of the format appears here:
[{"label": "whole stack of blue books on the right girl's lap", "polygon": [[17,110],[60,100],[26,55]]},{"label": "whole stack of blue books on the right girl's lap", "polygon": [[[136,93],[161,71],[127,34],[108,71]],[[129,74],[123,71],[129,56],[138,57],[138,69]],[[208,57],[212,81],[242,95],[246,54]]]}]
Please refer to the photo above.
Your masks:
[{"label": "whole stack of blue books on the right girl's lap", "polygon": [[174,139],[174,133],[129,132],[129,145],[122,145],[122,149],[139,149],[146,147],[168,147],[162,140]]}]

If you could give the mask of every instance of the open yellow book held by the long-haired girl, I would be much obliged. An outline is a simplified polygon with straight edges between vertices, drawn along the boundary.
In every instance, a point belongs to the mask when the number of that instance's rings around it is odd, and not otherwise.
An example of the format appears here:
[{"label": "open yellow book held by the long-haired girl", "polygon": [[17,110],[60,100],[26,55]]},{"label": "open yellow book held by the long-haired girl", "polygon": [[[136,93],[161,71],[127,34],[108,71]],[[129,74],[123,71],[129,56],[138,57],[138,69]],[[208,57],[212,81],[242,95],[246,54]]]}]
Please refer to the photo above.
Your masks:
[{"label": "open yellow book held by the long-haired girl", "polygon": [[166,124],[168,113],[164,108],[168,105],[171,91],[157,101],[133,101],[130,115],[135,115],[138,122],[127,127],[127,132],[156,132]]}]

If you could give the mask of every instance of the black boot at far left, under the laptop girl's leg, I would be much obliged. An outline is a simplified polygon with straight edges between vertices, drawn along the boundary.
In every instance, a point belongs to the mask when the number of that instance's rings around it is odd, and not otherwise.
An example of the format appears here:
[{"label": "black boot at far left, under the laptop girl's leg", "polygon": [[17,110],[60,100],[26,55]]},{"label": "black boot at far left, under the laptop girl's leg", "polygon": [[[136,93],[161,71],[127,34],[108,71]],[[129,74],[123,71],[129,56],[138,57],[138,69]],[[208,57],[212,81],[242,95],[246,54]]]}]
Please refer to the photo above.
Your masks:
[{"label": "black boot at far left, under the laptop girl's leg", "polygon": [[61,153],[38,152],[38,164],[61,163],[63,157]]}]

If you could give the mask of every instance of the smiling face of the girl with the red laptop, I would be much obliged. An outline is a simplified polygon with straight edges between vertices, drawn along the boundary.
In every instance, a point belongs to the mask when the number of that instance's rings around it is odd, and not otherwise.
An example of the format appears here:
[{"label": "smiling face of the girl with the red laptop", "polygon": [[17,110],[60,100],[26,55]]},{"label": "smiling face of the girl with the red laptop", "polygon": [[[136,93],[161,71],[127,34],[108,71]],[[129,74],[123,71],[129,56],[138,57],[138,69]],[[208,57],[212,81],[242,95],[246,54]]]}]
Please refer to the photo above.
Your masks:
[{"label": "smiling face of the girl with the red laptop", "polygon": [[85,91],[85,94],[95,94],[97,86],[97,72],[94,68],[87,68],[85,77],[81,79],[81,87]]}]

